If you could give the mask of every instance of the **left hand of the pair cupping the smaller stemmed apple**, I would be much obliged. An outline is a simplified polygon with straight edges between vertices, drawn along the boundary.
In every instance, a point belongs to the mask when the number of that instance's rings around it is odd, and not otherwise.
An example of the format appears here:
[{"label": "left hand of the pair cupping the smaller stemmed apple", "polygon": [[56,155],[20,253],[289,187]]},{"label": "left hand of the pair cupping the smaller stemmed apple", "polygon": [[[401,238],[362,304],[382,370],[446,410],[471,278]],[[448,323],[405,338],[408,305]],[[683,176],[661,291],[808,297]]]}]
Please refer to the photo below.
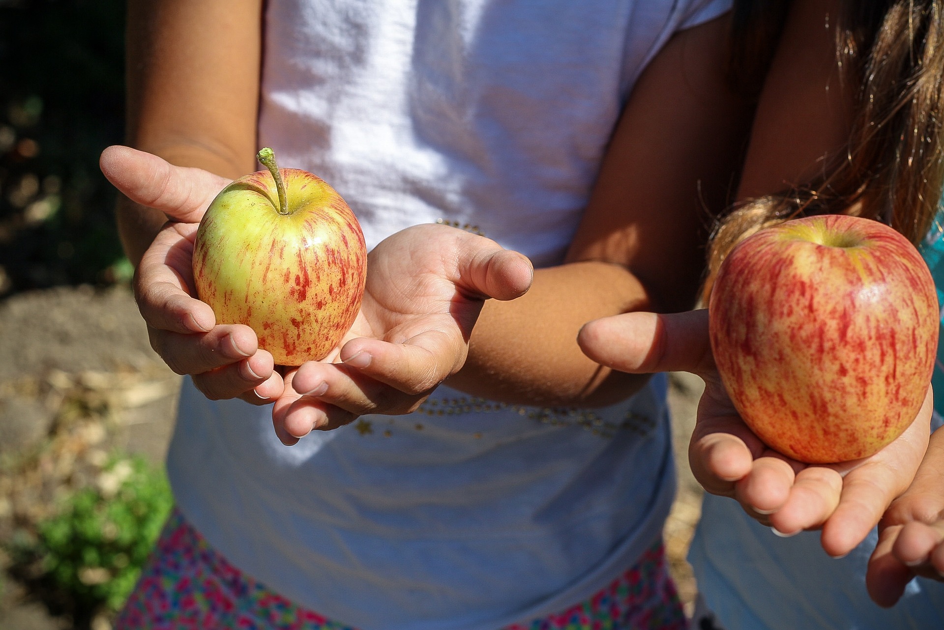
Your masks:
[{"label": "left hand of the pair cupping the smaller stemmed apple", "polygon": [[135,299],[151,346],[174,372],[192,374],[194,385],[208,398],[271,403],[268,399],[283,389],[272,355],[257,347],[256,333],[248,326],[216,325],[211,307],[194,297],[196,228],[229,180],[172,166],[125,146],[107,148],[101,167],[131,201],[159,209],[169,219],[134,276]]}]

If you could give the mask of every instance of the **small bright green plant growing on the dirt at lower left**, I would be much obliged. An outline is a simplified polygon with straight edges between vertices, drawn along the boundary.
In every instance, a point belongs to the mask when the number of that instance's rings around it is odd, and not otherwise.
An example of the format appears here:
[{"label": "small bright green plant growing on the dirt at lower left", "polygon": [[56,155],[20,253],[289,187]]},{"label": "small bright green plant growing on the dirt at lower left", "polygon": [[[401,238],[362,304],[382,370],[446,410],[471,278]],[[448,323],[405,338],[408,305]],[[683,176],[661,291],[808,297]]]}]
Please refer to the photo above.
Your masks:
[{"label": "small bright green plant growing on the dirt at lower left", "polygon": [[125,604],[172,507],[162,471],[140,456],[116,456],[95,485],[75,490],[34,534],[14,538],[13,572],[34,567],[31,591],[86,627]]}]

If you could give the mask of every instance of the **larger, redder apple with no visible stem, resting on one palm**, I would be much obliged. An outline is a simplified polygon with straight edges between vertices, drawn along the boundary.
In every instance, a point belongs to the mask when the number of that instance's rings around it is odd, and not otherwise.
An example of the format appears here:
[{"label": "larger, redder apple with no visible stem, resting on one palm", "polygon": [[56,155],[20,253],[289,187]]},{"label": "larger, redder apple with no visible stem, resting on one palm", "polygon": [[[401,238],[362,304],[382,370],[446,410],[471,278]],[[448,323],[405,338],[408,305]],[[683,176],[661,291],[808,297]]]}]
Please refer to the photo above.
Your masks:
[{"label": "larger, redder apple with no visible stem, resting on one palm", "polygon": [[788,221],[725,258],[709,300],[718,373],[768,446],[808,463],[870,456],[918,414],[937,348],[934,281],[876,221]]}]

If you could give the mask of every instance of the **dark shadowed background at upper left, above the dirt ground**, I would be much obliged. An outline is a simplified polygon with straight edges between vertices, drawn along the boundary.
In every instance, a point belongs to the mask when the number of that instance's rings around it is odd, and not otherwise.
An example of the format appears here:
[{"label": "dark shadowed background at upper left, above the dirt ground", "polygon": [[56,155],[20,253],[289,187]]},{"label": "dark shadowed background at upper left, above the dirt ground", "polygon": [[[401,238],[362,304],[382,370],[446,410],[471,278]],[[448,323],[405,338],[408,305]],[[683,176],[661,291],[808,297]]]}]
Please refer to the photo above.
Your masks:
[{"label": "dark shadowed background at upper left, above the dirt ground", "polygon": [[98,156],[124,136],[120,0],[0,0],[0,295],[126,273]]}]

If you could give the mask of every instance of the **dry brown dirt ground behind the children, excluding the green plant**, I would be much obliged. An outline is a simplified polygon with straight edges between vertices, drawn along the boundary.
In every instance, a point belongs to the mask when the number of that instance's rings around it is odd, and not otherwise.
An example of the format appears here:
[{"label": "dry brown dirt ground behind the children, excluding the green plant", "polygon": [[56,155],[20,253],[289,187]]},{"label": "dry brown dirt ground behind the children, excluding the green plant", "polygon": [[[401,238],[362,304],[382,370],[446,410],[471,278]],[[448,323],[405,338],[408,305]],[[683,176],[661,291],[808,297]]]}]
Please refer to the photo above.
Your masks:
[{"label": "dry brown dirt ground behind the children, excluding the green plant", "polygon": [[[162,462],[179,377],[151,350],[128,290],[59,288],[9,297],[0,302],[0,359],[0,539],[48,514],[68,489],[95,483],[110,450]],[[701,382],[681,373],[671,382],[680,482],[666,546],[690,609],[695,585],[684,554],[701,494],[684,454]],[[7,566],[0,553],[0,572]],[[0,630],[68,627],[0,574]],[[93,622],[93,630],[108,628],[105,618]]]}]

